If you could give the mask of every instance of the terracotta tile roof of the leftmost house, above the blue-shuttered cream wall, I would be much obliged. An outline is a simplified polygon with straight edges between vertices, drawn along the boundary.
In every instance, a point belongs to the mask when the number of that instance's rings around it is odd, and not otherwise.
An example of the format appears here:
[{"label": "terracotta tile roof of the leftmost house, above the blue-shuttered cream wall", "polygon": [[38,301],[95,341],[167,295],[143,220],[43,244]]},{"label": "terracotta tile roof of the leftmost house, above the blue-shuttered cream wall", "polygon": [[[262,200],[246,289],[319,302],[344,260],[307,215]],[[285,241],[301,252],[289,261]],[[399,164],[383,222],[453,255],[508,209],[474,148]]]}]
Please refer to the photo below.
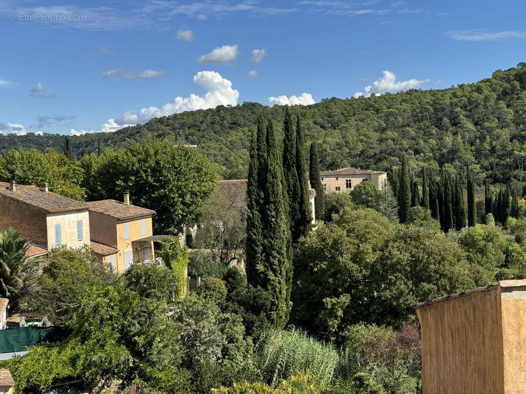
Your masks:
[{"label": "terracotta tile roof of the leftmost house, above the blue-shuttered cream wall", "polygon": [[0,194],[7,198],[22,201],[48,213],[79,211],[88,209],[87,205],[63,195],[44,192],[35,185],[16,185],[16,190],[9,190],[9,183],[0,182]]}]

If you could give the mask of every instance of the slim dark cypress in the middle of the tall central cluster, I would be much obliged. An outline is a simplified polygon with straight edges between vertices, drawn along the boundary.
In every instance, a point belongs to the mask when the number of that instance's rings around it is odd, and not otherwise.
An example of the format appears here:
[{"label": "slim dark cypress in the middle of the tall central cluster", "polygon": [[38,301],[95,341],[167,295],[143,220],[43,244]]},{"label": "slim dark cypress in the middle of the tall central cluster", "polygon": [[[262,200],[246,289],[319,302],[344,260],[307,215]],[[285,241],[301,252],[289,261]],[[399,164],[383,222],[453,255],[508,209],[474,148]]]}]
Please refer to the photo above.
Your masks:
[{"label": "slim dark cypress in the middle of the tall central cluster", "polygon": [[292,115],[288,106],[285,107],[283,124],[283,174],[287,187],[290,232],[292,241],[296,243],[301,236],[298,230],[300,185],[298,170],[296,169],[296,132],[292,126]]}]

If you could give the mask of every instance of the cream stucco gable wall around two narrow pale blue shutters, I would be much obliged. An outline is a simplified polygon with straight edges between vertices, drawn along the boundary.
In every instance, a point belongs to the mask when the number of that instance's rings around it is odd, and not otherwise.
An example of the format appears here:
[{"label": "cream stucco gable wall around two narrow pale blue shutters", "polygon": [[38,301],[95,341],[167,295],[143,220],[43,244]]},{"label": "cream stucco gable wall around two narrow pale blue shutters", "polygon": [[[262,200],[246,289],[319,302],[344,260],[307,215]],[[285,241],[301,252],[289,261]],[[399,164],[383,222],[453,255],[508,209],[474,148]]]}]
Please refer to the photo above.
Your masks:
[{"label": "cream stucco gable wall around two narrow pale blue shutters", "polygon": [[[77,221],[82,220],[82,241],[77,241]],[[89,213],[87,210],[47,215],[47,245],[49,249],[55,246],[55,224],[60,224],[62,244],[77,248],[89,245]]]}]

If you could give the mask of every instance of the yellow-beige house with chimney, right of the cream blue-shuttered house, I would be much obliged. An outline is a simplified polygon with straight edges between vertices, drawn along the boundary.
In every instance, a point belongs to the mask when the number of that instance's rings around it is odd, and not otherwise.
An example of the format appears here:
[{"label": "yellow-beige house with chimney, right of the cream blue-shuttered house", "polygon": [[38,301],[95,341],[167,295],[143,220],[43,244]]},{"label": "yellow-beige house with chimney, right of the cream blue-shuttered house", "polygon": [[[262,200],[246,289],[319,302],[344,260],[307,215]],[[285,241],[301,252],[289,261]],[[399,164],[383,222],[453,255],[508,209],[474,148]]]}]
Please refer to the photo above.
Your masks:
[{"label": "yellow-beige house with chimney, right of the cream blue-shuttered house", "polygon": [[123,201],[101,200],[87,203],[92,248],[99,261],[115,272],[124,272],[134,262],[153,261],[151,218],[155,211]]}]

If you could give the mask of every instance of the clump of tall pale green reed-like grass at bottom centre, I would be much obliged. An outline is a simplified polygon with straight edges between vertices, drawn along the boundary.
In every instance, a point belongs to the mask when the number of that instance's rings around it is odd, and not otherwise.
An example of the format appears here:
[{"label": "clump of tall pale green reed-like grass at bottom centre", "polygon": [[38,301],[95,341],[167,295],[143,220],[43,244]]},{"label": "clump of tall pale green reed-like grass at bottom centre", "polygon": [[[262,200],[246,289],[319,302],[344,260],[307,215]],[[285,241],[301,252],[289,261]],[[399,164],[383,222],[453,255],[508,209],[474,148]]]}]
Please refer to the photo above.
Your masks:
[{"label": "clump of tall pale green reed-like grass at bottom centre", "polygon": [[309,371],[322,383],[329,383],[338,364],[338,352],[303,331],[269,330],[256,344],[256,366],[264,380],[277,387],[295,372]]}]

